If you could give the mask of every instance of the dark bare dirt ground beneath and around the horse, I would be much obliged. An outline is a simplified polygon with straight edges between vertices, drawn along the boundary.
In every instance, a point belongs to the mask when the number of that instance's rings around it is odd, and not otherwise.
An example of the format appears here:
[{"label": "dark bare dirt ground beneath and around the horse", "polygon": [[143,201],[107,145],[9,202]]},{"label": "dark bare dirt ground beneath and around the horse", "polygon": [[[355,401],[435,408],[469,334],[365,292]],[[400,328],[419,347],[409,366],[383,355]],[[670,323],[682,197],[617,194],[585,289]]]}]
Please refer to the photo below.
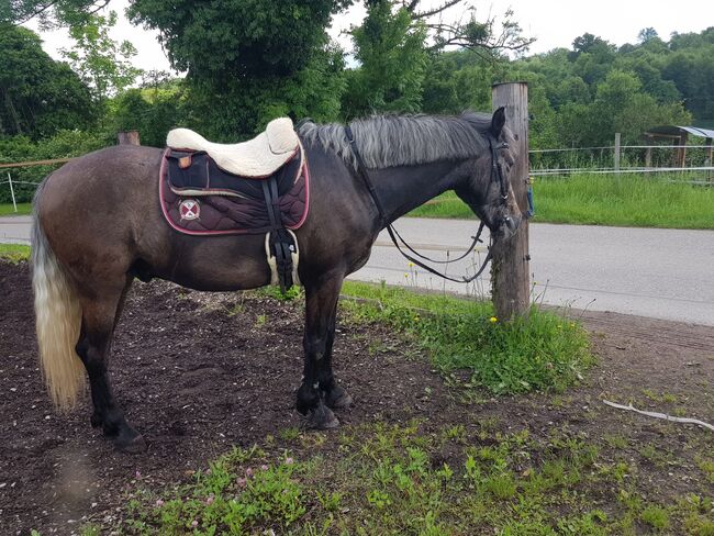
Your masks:
[{"label": "dark bare dirt ground beneath and around the horse", "polygon": [[[26,264],[0,263],[0,298],[2,535],[111,524],[137,480],[149,487],[181,481],[232,445],[252,446],[302,423],[293,407],[301,304],[137,282],[111,365],[126,415],[149,445],[131,456],[115,453],[90,427],[89,402],[68,415],[52,410],[37,369]],[[654,442],[684,460],[665,478],[655,466],[640,468],[650,471],[652,493],[701,491],[706,483],[690,469],[696,451],[714,445],[714,434],[613,410],[601,400],[714,422],[714,330],[613,313],[583,313],[581,320],[600,359],[582,386],[558,397],[484,393],[476,403],[455,397],[395,334],[341,323],[336,375],[356,404],[338,417],[343,426],[420,417],[468,428],[497,418],[535,436],[562,426],[591,438],[622,434],[633,453]]]}]

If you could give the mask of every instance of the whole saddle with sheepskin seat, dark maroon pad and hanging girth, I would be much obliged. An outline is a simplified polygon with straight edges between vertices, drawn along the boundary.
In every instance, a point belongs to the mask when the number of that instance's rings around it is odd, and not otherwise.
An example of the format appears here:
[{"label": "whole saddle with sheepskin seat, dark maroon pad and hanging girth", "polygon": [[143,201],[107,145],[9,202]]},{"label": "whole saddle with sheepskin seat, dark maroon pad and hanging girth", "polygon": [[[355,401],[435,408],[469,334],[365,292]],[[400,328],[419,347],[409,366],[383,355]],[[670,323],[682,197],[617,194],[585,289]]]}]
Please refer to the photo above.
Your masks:
[{"label": "whole saddle with sheepskin seat, dark maroon pad and hanging girth", "polygon": [[300,284],[293,233],[308,217],[310,172],[289,118],[231,145],[188,129],[168,133],[159,172],[161,210],[178,232],[216,236],[265,234],[271,283]]}]

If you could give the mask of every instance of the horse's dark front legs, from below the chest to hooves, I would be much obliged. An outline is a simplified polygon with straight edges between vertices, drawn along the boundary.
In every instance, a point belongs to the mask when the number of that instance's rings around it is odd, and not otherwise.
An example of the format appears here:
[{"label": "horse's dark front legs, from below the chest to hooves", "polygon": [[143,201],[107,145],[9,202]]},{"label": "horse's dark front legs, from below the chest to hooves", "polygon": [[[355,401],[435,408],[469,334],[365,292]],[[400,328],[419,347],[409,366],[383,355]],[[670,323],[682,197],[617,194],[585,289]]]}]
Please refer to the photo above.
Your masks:
[{"label": "horse's dark front legs, from below the chest to hooves", "polygon": [[[349,395],[335,384],[332,372],[335,316],[343,278],[321,279],[320,283],[305,284],[304,371],[298,390],[298,411],[309,416],[313,427],[334,428],[339,421],[328,405],[349,404],[345,400]],[[335,404],[336,400],[346,403]]]}]

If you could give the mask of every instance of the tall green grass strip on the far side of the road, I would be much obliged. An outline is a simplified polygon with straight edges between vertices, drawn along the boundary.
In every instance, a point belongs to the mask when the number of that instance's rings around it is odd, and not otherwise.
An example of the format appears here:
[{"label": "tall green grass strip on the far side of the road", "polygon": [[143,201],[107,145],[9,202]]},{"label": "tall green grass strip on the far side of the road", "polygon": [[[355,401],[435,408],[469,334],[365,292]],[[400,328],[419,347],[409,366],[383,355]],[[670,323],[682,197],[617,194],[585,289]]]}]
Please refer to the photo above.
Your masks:
[{"label": "tall green grass strip on the far side of the road", "polygon": [[[534,222],[671,228],[714,228],[714,188],[647,179],[642,175],[578,175],[534,180]],[[410,215],[473,217],[447,192]]]}]

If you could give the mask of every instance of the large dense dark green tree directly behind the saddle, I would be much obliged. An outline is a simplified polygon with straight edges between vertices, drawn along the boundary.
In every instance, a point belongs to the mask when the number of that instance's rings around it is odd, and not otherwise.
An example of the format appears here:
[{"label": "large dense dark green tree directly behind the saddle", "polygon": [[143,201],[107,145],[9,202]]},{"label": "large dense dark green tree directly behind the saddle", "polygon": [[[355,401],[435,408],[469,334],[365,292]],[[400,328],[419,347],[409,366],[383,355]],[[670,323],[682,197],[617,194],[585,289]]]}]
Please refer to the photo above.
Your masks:
[{"label": "large dense dark green tree directly behind the saddle", "polygon": [[344,64],[326,26],[349,3],[136,0],[130,16],[158,30],[174,67],[188,72],[183,124],[235,141],[276,115],[337,119]]}]

